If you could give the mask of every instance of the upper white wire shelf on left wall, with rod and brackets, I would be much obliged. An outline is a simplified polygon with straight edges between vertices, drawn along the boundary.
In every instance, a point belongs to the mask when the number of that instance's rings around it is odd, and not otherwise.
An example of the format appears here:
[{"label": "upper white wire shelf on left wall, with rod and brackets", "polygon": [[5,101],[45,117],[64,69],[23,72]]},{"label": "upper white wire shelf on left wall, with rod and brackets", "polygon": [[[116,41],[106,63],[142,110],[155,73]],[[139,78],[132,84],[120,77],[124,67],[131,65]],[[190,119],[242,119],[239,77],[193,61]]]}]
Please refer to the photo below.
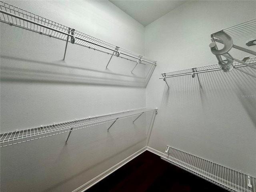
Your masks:
[{"label": "upper white wire shelf on left wall, with rod and brackets", "polygon": [[[2,1],[0,1],[0,21],[66,41],[63,61],[65,61],[68,42],[71,42],[72,44],[77,44],[110,54],[111,58],[114,55],[116,57],[136,62],[136,66],[139,63],[152,64],[156,66],[156,61],[150,58],[89,36],[75,30],[74,28],[64,26]],[[110,60],[108,61],[108,64]]]}]

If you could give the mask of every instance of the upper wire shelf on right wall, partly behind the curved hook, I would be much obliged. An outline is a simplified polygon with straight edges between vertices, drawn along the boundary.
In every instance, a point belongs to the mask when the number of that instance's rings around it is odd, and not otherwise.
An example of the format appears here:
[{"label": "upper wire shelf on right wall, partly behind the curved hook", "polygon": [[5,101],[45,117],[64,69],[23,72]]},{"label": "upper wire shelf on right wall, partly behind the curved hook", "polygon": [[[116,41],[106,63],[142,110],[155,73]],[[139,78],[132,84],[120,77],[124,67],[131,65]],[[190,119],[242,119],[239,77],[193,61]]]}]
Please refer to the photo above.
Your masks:
[{"label": "upper wire shelf on right wall, partly behind the curved hook", "polygon": [[[246,61],[247,64],[255,65],[256,64],[256,57],[251,57]],[[244,64],[241,64],[240,62],[234,61],[233,66],[236,68],[240,67],[247,67]],[[193,71],[194,69],[194,71]],[[174,77],[174,76],[182,76],[182,75],[189,75],[189,74],[196,74],[196,73],[204,73],[204,72],[210,72],[210,71],[217,71],[221,70],[221,67],[219,64],[212,64],[212,65],[206,65],[206,66],[201,66],[197,68],[190,68],[190,69],[184,69],[184,70],[178,70],[178,71],[173,71],[173,72],[166,72],[166,73],[161,73],[160,79],[162,78],[169,78],[169,77]]]}]

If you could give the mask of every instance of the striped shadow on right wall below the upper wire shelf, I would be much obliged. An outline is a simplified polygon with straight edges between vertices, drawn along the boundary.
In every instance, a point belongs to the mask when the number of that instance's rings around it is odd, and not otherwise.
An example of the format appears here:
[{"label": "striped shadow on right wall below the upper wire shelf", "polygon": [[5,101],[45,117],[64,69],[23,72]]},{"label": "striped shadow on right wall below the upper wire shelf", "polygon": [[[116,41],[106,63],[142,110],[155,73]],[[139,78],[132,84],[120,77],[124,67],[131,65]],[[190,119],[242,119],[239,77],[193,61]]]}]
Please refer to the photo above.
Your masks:
[{"label": "striped shadow on right wall below the upper wire shelf", "polygon": [[[243,70],[253,73],[251,68]],[[255,72],[254,72],[255,73]],[[231,72],[213,71],[198,74],[198,79],[191,75],[166,78],[170,86],[165,86],[161,107],[169,108],[178,103],[180,108],[193,107],[201,103],[202,108],[207,108],[212,102],[226,102],[234,105],[240,102],[248,116],[256,126],[256,79],[238,70]],[[163,81],[163,80],[162,80]],[[165,82],[162,82],[165,84]]]}]

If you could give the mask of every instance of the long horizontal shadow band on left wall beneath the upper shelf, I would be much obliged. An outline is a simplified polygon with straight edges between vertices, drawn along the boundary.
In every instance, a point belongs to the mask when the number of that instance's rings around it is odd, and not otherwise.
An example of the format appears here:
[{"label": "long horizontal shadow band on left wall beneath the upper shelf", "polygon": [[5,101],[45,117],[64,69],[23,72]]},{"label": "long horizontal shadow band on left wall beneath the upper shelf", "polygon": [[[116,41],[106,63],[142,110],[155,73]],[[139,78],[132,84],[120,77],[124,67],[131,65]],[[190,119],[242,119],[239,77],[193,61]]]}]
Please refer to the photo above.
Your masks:
[{"label": "long horizontal shadow band on left wall beneath the upper shelf", "polygon": [[[1,56],[1,81],[49,84],[92,84],[105,86],[145,87],[155,66],[150,67],[146,78],[135,74],[125,75],[108,70],[63,65],[62,60],[56,63],[28,60],[10,56]],[[8,63],[18,62],[19,65]],[[37,66],[36,66],[37,65]],[[32,66],[32,67],[31,67]],[[53,68],[53,70],[51,70]]]}]

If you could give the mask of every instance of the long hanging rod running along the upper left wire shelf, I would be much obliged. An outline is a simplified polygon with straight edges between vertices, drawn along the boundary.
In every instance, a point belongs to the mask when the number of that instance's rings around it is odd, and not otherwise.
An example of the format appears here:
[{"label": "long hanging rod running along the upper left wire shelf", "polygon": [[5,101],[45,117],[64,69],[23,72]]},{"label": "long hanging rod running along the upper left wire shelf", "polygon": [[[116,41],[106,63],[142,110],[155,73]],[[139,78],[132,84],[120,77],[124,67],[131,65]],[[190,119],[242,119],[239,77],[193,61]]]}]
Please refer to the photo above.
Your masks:
[{"label": "long hanging rod running along the upper left wire shelf", "polygon": [[60,30],[54,29],[54,28],[52,28],[52,27],[49,27],[49,26],[46,26],[46,25],[40,24],[40,23],[38,23],[38,22],[34,22],[34,21],[29,20],[29,19],[27,19],[27,18],[23,18],[23,17],[21,17],[21,16],[18,16],[18,15],[12,14],[12,13],[9,13],[9,12],[7,12],[7,11],[0,10],[0,12],[2,12],[3,14],[7,14],[7,15],[10,15],[10,16],[12,16],[12,17],[15,17],[15,18],[18,18],[18,19],[21,19],[21,20],[24,20],[24,21],[27,21],[27,22],[30,22],[30,23],[33,23],[33,24],[39,25],[39,26],[42,26],[42,27],[44,27],[44,28],[48,28],[48,29],[50,29],[50,30],[53,30],[53,31],[59,32],[59,33],[61,33],[61,34],[64,34],[64,35],[66,35],[66,36],[74,37],[75,39],[79,39],[79,40],[82,40],[82,41],[88,42],[88,43],[90,43],[90,44],[94,44],[94,45],[96,45],[96,46],[100,46],[100,47],[102,47],[102,48],[105,48],[105,49],[111,50],[111,51],[113,51],[113,52],[118,52],[118,53],[120,53],[120,54],[123,54],[123,55],[129,56],[129,57],[132,57],[132,58],[135,58],[135,59],[138,59],[138,60],[142,60],[142,61],[147,62],[147,63],[149,63],[149,64],[156,65],[156,62],[150,62],[150,61],[144,60],[143,58],[139,58],[139,57],[136,57],[136,56],[133,56],[133,55],[130,55],[130,54],[124,53],[124,52],[119,51],[119,50],[117,51],[117,50],[115,50],[115,49],[108,48],[108,47],[106,47],[106,46],[104,46],[104,45],[100,45],[100,44],[94,43],[94,42],[92,42],[92,41],[85,40],[85,39],[80,38],[80,37],[78,37],[78,36],[75,36],[75,35],[72,35],[72,34],[68,34],[68,33],[66,33],[66,32],[63,32],[63,31],[60,31]]}]

